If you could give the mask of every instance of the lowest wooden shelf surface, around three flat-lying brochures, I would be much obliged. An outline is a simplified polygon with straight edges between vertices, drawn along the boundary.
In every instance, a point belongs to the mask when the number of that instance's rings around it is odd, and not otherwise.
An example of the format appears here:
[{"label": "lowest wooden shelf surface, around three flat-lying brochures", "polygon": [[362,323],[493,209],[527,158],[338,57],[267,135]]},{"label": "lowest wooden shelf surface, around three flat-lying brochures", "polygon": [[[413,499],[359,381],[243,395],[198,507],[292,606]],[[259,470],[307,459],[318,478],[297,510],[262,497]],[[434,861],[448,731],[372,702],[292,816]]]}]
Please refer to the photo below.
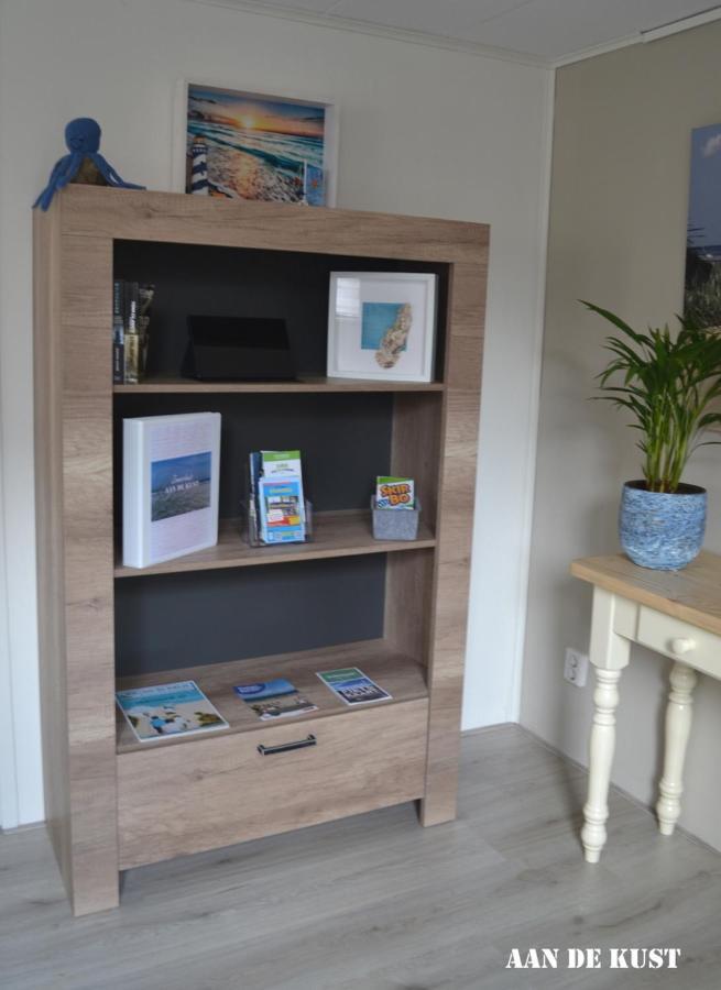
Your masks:
[{"label": "lowest wooden shelf surface, around three flat-lying brochures", "polygon": [[[118,690],[170,684],[175,681],[195,681],[212,702],[229,725],[228,729],[208,733],[203,738],[267,730],[280,723],[298,724],[298,735],[303,735],[303,723],[309,718],[352,715],[354,708],[343,704],[316,676],[317,671],[335,670],[341,667],[358,667],[392,695],[392,701],[378,702],[379,705],[394,705],[428,696],[423,668],[412,658],[393,649],[385,640],[370,639],[361,642],[341,644],[317,650],[297,653],[282,653],[274,657],[259,657],[253,660],[233,660],[228,663],[209,663],[205,667],[164,670],[142,676],[128,676],[118,681]],[[270,722],[262,722],[252,708],[233,692],[234,684],[252,684],[273,678],[288,681],[318,706],[316,712]],[[368,705],[359,705],[363,711]],[[164,739],[159,743],[139,743],[132,730],[117,713],[117,748],[119,754],[142,749],[165,749],[166,746],[182,746],[198,743],[198,735]]]}]

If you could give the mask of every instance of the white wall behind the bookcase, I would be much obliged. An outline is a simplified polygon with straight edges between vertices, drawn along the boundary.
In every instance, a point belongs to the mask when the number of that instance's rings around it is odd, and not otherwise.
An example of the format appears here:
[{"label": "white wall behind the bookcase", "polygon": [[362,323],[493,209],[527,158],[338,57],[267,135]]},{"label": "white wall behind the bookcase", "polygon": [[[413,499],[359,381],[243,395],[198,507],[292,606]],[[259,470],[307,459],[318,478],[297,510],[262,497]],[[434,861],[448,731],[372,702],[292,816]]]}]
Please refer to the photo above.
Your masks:
[{"label": "white wall behind the bookcase", "polygon": [[[96,117],[121,175],[170,188],[176,80],[340,106],[338,205],[492,224],[463,721],[515,712],[539,330],[547,70],[178,0],[7,0],[0,33],[4,529],[17,815],[42,817],[31,394],[33,197],[63,127]],[[509,389],[513,383],[513,392]],[[1,632],[1,629],[0,629]],[[0,637],[0,647],[2,639]],[[8,688],[8,690],[10,690]],[[6,703],[2,704],[6,711]],[[0,740],[1,741],[1,740]],[[6,793],[12,791],[4,749]]]}]

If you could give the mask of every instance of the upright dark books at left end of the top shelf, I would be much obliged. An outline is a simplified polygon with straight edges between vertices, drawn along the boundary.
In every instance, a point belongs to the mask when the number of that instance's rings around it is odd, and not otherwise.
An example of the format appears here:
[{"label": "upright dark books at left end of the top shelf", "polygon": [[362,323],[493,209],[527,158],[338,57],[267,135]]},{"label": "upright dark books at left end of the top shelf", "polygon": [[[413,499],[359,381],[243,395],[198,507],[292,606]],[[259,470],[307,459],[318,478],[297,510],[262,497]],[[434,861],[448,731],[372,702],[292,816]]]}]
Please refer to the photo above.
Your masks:
[{"label": "upright dark books at left end of the top shelf", "polygon": [[112,382],[138,385],[148,366],[150,307],[154,286],[112,283]]}]

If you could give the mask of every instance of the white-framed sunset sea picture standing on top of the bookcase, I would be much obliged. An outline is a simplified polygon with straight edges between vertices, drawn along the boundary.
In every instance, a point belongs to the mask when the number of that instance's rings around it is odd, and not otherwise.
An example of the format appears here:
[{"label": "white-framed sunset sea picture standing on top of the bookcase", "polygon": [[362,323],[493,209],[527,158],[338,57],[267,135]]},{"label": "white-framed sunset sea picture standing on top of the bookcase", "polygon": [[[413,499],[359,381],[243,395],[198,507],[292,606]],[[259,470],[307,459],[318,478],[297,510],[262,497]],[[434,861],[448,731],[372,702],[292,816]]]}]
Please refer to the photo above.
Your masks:
[{"label": "white-framed sunset sea picture standing on top of the bookcase", "polygon": [[175,143],[173,186],[178,191],[335,205],[332,103],[183,81]]}]

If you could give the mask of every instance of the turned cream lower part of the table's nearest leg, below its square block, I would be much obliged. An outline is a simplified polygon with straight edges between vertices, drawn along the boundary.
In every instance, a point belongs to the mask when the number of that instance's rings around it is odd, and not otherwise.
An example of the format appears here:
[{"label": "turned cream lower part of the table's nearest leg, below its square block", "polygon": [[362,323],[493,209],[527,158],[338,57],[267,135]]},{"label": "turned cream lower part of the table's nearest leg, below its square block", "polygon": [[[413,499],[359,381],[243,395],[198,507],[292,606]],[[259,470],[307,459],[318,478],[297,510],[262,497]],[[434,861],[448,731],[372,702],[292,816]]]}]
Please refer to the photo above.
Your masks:
[{"label": "turned cream lower part of the table's nearest leg, below its square block", "polygon": [[581,842],[587,862],[598,862],[605,845],[609,817],[609,782],[615,747],[615,710],[619,704],[620,670],[596,671],[593,725],[589,744],[588,800],[583,806]]}]

